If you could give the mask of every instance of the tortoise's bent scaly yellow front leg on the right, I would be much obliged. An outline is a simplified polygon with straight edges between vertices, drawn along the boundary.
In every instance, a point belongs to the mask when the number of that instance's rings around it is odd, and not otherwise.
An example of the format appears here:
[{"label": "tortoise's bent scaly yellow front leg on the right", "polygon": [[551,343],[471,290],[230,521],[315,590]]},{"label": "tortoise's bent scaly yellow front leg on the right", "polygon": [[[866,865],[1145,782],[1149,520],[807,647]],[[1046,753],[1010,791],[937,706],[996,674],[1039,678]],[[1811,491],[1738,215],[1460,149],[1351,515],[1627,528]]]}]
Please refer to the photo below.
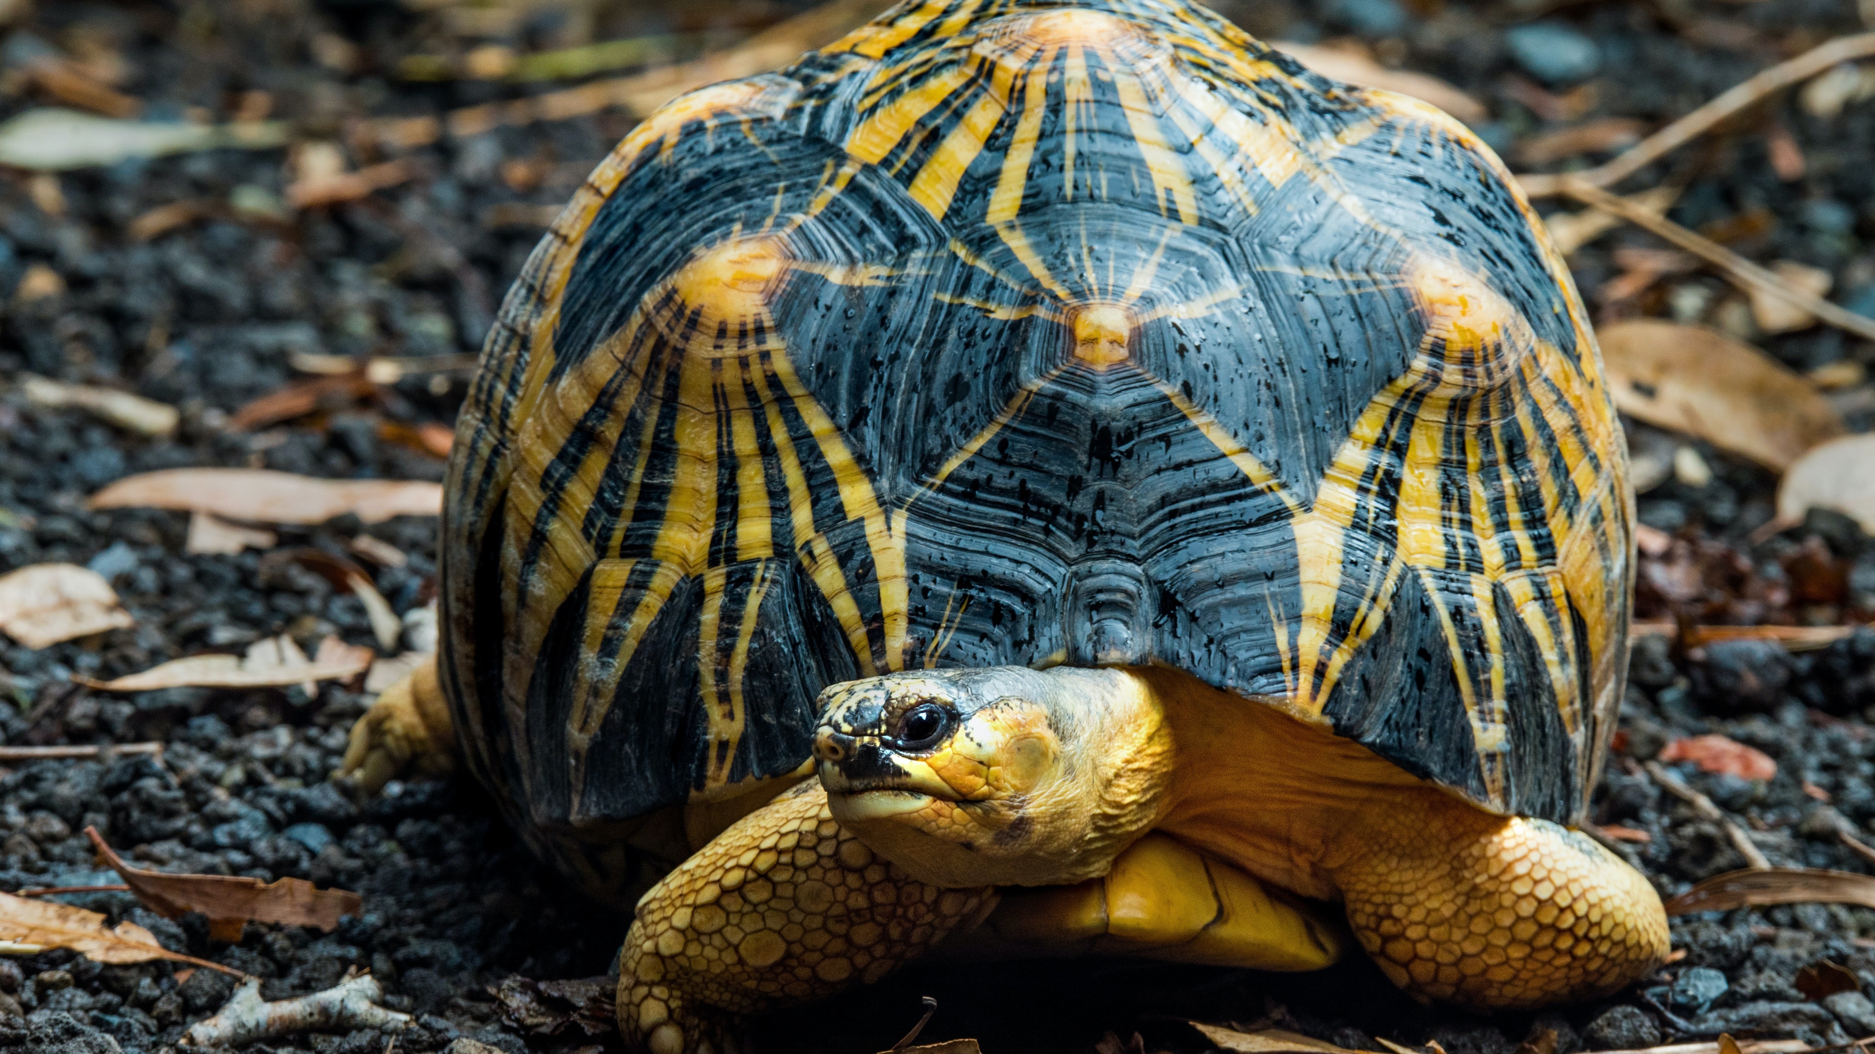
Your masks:
[{"label": "tortoise's bent scaly yellow front leg on the right", "polygon": [[1594,838],[1440,791],[1376,808],[1335,866],[1348,925],[1416,998],[1472,1009],[1586,1000],[1667,958],[1667,913]]}]

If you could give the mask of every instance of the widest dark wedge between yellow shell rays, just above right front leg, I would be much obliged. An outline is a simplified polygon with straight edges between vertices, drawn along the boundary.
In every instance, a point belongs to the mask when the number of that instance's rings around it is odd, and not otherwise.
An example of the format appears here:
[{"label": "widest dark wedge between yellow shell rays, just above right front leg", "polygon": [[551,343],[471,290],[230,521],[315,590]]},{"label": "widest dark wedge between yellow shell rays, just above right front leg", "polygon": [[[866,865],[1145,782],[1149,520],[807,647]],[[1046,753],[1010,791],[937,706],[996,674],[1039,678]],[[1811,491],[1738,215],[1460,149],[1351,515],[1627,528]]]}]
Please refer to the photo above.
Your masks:
[{"label": "widest dark wedge between yellow shell rays, just above right front leg", "polygon": [[1419,576],[1401,574],[1388,617],[1342,668],[1324,713],[1337,733],[1408,773],[1481,799],[1472,720],[1449,655]]}]

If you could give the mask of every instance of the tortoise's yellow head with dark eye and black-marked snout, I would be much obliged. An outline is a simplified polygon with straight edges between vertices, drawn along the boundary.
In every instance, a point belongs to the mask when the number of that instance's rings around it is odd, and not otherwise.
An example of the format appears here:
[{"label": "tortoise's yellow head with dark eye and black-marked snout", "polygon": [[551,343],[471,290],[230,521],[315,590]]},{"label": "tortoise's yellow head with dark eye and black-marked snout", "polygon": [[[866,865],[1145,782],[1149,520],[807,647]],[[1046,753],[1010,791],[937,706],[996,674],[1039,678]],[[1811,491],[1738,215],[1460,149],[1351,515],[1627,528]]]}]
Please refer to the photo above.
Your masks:
[{"label": "tortoise's yellow head with dark eye and black-marked snout", "polygon": [[934,885],[1095,878],[1159,818],[1162,715],[1125,670],[932,670],[821,692],[834,820]]}]

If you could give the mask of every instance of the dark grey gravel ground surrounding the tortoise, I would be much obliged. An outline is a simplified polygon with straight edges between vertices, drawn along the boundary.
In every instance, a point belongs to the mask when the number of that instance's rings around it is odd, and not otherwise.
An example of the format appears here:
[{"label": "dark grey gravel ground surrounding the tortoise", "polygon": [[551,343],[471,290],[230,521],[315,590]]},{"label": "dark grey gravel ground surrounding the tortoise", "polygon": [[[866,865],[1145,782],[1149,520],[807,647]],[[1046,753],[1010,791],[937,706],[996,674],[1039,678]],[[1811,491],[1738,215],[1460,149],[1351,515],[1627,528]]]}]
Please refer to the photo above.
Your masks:
[{"label": "dark grey gravel ground surrounding the tortoise", "polygon": [[[9,92],[0,98],[0,118],[47,101],[28,71],[47,54],[64,54],[114,75],[120,92],[142,99],[146,116],[225,120],[270,107],[294,122],[298,141],[336,143],[347,141],[358,118],[437,114],[516,92],[493,83],[403,83],[396,69],[407,56],[461,54],[476,41],[525,51],[581,34],[682,32],[692,34],[682,47],[701,47],[786,13],[763,0],[686,6],[682,15],[628,4],[534,4],[519,6],[523,17],[506,24],[484,24],[463,13],[471,9],[435,4],[411,4],[429,9],[411,13],[354,0],[62,2],[4,28],[15,8],[0,2],[0,92]],[[1532,137],[1601,116],[1667,120],[1768,62],[1862,28],[1849,0],[1238,0],[1226,13],[1271,38],[1361,39],[1382,62],[1459,84],[1489,105],[1492,120],[1479,131],[1508,156]],[[472,36],[465,24],[486,32]],[[43,651],[0,638],[4,743],[167,743],[161,761],[0,769],[0,889],[111,881],[92,861],[81,835],[86,825],[146,866],[311,878],[360,891],[366,913],[332,934],[255,925],[229,945],[210,940],[199,917],[165,921],[128,895],[64,900],[259,975],[268,998],[321,990],[352,966],[369,968],[394,1007],[420,1015],[420,1028],[398,1035],[398,1050],[439,1050],[456,1037],[508,1054],[592,1043],[617,1048],[609,1035],[540,1035],[506,1024],[488,986],[512,973],[604,973],[622,917],[602,917],[538,868],[472,786],[399,784],[360,808],[324,782],[369,698],[336,685],[311,698],[300,688],[111,696],[69,677],[238,651],[281,632],[308,647],[328,634],[371,643],[360,602],[324,580],[262,566],[251,551],[188,555],[182,514],[86,512],[82,499],[129,473],[180,465],[441,478],[442,463],[407,437],[420,424],[450,420],[461,373],[418,371],[373,392],[338,392],[309,414],[257,431],[232,428],[231,416],[296,379],[294,354],[476,351],[501,291],[538,236],[540,206],[564,201],[628,126],[628,118],[600,114],[444,141],[409,154],[416,176],[401,186],[296,214],[279,204],[291,163],[283,150],[126,161],[58,178],[0,173],[0,302],[8,304],[0,375],[116,386],[182,409],[178,433],[152,443],[81,411],[39,409],[11,384],[0,390],[0,570],[90,565],[114,581],[137,617],[131,628]],[[1774,141],[1802,154],[1800,178],[1778,174]],[[1689,180],[1672,212],[1682,223],[1723,234],[1759,261],[1826,268],[1838,302],[1875,315],[1869,156],[1875,109],[1852,103],[1841,116],[1817,118],[1781,101],[1682,152],[1652,178]],[[381,159],[368,146],[351,148],[354,165]],[[174,203],[195,203],[188,221],[148,240],[131,236],[133,219]],[[1663,315],[1749,328],[1742,302],[1702,274],[1607,300],[1603,285],[1622,272],[1622,251],[1635,248],[1658,244],[1622,231],[1571,259],[1599,319]],[[1875,366],[1875,349],[1836,330],[1761,338],[1759,345],[1806,371]],[[1834,398],[1852,428],[1875,424],[1875,388],[1856,384],[1852,371]],[[1644,428],[1633,435],[1642,454],[1682,443]],[[1875,617],[1875,540],[1836,516],[1753,540],[1770,519],[1776,480],[1704,444],[1691,448],[1712,480],[1669,478],[1641,499],[1641,519],[1676,538],[1642,566],[1641,619],[1832,625]],[[1697,473],[1680,478],[1697,480]],[[356,519],[338,519],[287,529],[281,546],[343,551],[360,533],[366,527]],[[377,572],[379,589],[399,613],[422,606],[433,591],[433,521],[398,519],[368,533],[409,555],[405,566]],[[1669,739],[1708,731],[1778,761],[1776,778],[1757,782],[1676,765],[1772,863],[1871,870],[1839,835],[1875,840],[1868,713],[1875,707],[1875,632],[1808,655],[1751,641],[1682,651],[1650,638],[1637,649],[1631,679],[1622,750],[1594,820],[1650,838],[1624,851],[1665,895],[1744,866],[1723,829],[1665,795],[1639,765]],[[1860,992],[1804,994],[1817,990],[1809,979],[1822,962],[1847,971],[1834,977],[1854,977],[1875,992],[1875,911],[1811,904],[1684,917],[1674,921],[1674,947],[1686,956],[1656,985],[1541,1016],[1472,1018],[1419,1007],[1359,960],[1298,977],[1132,962],[934,962],[842,1000],[771,1015],[761,1035],[774,1052],[879,1050],[917,1018],[926,994],[941,1003],[928,1039],[977,1035],[990,1054],[1204,1050],[1179,1024],[1187,1016],[1275,1024],[1356,1048],[1378,1048],[1376,1035],[1436,1039],[1448,1054],[1511,1054],[1543,1028],[1556,1031],[1558,1054],[1721,1031],[1811,1045],[1875,1033],[1875,1005]],[[69,953],[6,958],[0,1048],[165,1050],[229,992],[227,979],[208,970],[178,985],[169,964],[98,966]],[[1144,1033],[1144,1046],[1132,1045],[1134,1031]],[[386,1037],[308,1033],[253,1048],[379,1054]]]}]

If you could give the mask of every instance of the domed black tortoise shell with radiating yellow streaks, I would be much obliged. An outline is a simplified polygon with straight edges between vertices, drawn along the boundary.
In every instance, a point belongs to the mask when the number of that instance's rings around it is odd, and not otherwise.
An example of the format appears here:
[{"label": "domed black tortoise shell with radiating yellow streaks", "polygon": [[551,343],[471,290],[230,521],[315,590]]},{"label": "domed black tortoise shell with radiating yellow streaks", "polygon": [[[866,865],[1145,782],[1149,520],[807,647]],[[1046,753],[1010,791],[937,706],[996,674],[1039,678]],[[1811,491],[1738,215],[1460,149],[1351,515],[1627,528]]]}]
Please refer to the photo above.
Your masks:
[{"label": "domed black tortoise shell with radiating yellow streaks", "polygon": [[1176,0],[908,0],[638,126],[458,426],[442,683],[594,885],[816,694],[1162,664],[1568,821],[1626,454],[1502,163]]}]

